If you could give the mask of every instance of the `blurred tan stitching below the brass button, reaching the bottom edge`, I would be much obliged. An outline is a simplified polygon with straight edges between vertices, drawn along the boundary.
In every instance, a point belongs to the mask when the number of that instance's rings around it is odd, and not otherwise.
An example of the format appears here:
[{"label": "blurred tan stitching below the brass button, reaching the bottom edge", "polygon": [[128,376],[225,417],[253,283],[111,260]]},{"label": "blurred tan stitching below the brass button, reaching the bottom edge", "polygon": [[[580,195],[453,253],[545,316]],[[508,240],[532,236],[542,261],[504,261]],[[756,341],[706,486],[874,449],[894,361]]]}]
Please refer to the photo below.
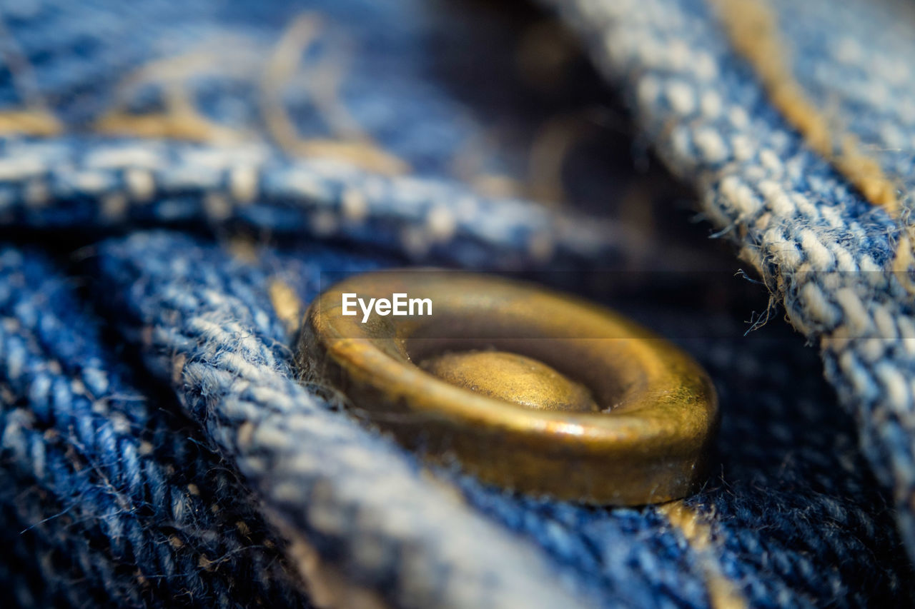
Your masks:
[{"label": "blurred tan stitching below the brass button, reaching the bottom edge", "polygon": [[712,554],[712,530],[705,518],[698,511],[690,508],[683,501],[658,506],[658,511],[683,534],[690,547],[699,557],[700,566],[705,575],[705,589],[709,602],[715,609],[743,609],[747,601],[721,572],[715,556]]}]

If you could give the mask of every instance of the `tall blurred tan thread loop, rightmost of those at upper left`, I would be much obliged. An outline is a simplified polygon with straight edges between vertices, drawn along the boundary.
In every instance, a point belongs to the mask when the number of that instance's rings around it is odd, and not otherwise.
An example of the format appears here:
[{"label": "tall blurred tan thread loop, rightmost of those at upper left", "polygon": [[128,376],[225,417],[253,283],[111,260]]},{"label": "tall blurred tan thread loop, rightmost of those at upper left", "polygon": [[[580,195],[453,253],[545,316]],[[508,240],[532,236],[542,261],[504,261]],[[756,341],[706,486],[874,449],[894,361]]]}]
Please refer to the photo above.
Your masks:
[{"label": "tall blurred tan thread loop, rightmost of those at upper left", "polygon": [[[324,91],[317,96],[315,102],[328,126],[331,129],[336,128],[341,132],[341,136],[355,137],[354,141],[303,140],[297,134],[296,125],[283,104],[283,88],[295,75],[302,52],[318,36],[319,27],[320,21],[317,16],[299,16],[280,38],[273,56],[268,59],[264,77],[261,79],[261,108],[267,131],[277,144],[292,155],[329,156],[382,174],[405,173],[409,166],[401,159],[384,152],[366,135],[361,134],[355,121],[342,109],[336,92],[339,79],[331,76],[332,69],[318,71],[318,81],[324,85]],[[311,72],[309,75],[314,76]],[[314,96],[313,87],[312,95]]]}]

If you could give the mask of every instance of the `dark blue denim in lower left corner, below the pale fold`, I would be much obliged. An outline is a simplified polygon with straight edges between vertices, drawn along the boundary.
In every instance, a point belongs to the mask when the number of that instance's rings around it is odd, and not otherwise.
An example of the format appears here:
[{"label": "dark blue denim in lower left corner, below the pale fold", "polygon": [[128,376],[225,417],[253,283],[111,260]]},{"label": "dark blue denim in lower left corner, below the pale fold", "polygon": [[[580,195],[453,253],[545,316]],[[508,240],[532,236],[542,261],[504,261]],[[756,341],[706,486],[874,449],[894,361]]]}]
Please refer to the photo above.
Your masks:
[{"label": "dark blue denim in lower left corner, below the pale fold", "polygon": [[250,494],[71,280],[0,252],[5,603],[307,607]]}]

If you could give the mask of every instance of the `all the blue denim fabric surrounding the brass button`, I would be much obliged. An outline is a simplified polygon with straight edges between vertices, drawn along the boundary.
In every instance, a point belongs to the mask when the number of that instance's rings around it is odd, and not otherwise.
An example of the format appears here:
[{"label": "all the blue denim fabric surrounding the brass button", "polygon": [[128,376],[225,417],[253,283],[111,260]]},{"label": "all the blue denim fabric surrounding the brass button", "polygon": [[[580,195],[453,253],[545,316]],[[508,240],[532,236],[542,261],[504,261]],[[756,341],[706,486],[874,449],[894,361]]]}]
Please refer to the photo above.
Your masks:
[{"label": "all the blue denim fabric surrounding the brass button", "polygon": [[[823,102],[832,80],[816,79],[838,65],[823,48],[855,55],[834,32],[865,36],[902,8],[808,6],[773,4],[791,69]],[[628,127],[594,133],[619,110],[573,35],[530,13],[418,0],[0,11],[13,241],[0,253],[0,581],[16,603],[912,603],[891,508],[908,530],[906,217],[804,141],[709,6],[560,9],[634,110],[635,144]],[[870,78],[896,82],[890,68]],[[878,129],[856,115],[858,91],[841,112],[867,144]],[[899,104],[886,121],[906,120]],[[633,170],[645,142],[818,341],[854,416],[788,326],[743,337],[762,288],[737,313],[714,303],[739,278],[695,310],[662,288],[592,292],[601,269],[720,263],[670,211],[682,195],[655,184],[662,172]],[[429,470],[299,382],[295,313],[322,272],[429,262],[559,276],[677,338],[724,411],[703,490],[674,507],[520,497]]]}]

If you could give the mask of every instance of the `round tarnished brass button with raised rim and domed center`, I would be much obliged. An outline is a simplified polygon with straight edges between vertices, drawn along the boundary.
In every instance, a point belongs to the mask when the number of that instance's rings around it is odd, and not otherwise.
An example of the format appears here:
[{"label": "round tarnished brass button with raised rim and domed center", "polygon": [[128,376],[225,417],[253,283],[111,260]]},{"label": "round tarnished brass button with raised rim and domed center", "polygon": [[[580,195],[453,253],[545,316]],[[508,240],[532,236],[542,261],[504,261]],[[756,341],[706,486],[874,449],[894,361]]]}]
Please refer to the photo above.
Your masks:
[{"label": "round tarnished brass button with raised rim and domed center", "polygon": [[[431,315],[393,315],[393,294]],[[352,315],[354,297],[388,306]],[[298,363],[427,458],[592,504],[688,495],[717,425],[715,390],[679,348],[572,296],[466,272],[337,283],[308,309]]]}]

